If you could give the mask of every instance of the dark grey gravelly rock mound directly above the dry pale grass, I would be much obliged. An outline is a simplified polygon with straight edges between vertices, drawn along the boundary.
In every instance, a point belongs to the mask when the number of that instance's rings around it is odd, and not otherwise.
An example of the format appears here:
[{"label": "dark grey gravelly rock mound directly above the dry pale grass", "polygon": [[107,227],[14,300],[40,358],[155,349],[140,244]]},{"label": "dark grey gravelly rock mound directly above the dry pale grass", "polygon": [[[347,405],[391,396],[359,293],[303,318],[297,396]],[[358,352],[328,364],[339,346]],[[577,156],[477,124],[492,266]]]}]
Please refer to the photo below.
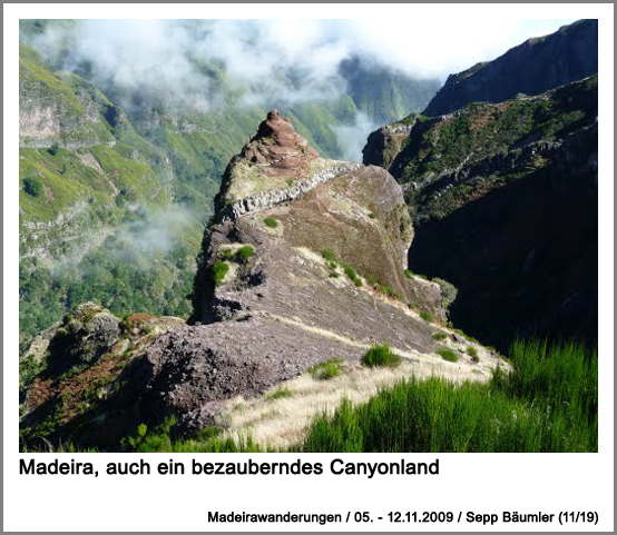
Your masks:
[{"label": "dark grey gravelly rock mound directly above the dry pale grass", "polygon": [[[184,326],[160,336],[143,364],[145,413],[180,415],[183,433],[212,424],[224,402],[263,393],[323,360],[323,355],[358,359],[360,348],[300,331],[267,317]],[[153,399],[150,399],[150,397]]]}]

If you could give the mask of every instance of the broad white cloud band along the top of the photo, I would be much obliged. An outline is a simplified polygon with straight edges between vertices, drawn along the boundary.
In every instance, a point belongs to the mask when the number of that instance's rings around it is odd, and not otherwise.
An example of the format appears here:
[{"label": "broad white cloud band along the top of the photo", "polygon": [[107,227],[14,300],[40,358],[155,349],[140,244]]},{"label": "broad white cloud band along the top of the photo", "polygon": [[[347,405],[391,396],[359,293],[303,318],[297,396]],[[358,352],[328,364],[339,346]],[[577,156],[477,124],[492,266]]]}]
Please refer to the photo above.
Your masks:
[{"label": "broad white cloud band along the top of the photo", "polygon": [[[80,20],[50,23],[32,40],[55,66],[78,71],[124,106],[137,93],[207,110],[236,87],[266,105],[331,99],[340,63],[360,57],[414,78],[444,79],[565,20]],[[123,101],[124,99],[124,101]]]}]

